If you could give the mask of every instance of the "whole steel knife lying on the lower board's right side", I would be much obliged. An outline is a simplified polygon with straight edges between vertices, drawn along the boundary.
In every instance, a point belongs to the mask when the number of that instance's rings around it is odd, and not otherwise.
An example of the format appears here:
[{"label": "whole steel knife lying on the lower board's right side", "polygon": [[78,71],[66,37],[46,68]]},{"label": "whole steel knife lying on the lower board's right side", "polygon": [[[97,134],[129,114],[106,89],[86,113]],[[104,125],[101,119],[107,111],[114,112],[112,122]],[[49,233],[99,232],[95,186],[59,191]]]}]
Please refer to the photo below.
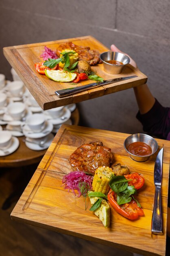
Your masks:
[{"label": "whole steel knife lying on the lower board's right side", "polygon": [[161,183],[162,183],[163,148],[159,151],[154,167],[155,198],[152,215],[151,231],[153,234],[163,234],[162,205],[161,205]]}]

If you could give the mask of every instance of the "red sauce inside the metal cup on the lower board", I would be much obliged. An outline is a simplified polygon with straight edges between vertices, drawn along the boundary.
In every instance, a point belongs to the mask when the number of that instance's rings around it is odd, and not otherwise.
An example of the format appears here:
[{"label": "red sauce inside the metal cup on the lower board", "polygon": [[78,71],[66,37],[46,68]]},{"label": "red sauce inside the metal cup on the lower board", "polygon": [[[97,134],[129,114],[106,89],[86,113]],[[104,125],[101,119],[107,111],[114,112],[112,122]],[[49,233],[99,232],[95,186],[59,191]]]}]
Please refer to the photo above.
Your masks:
[{"label": "red sauce inside the metal cup on the lower board", "polygon": [[133,155],[150,155],[152,153],[152,148],[141,141],[133,142],[129,145],[129,152]]}]

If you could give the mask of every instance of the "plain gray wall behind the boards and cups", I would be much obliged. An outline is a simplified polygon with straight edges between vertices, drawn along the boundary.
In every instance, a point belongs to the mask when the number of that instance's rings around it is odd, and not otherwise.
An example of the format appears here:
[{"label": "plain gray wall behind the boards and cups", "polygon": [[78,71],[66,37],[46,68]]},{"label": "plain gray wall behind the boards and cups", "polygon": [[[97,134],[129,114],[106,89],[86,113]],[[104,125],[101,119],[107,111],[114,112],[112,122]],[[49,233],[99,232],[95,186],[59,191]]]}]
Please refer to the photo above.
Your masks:
[{"label": "plain gray wall behind the boards and cups", "polygon": [[[168,0],[1,0],[0,73],[11,79],[2,47],[92,35],[135,59],[163,106],[170,104]],[[133,89],[78,104],[81,125],[142,132]]]}]

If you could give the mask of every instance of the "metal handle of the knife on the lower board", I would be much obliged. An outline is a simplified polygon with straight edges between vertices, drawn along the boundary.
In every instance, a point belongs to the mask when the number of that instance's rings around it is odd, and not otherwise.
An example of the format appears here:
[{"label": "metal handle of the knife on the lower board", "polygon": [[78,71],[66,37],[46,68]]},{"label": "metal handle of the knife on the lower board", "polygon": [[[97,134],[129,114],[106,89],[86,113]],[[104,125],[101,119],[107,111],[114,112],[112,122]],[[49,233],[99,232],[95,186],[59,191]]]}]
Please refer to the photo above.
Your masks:
[{"label": "metal handle of the knife on the lower board", "polygon": [[151,231],[156,235],[163,235],[162,207],[161,207],[161,186],[155,187],[155,198],[152,216]]}]

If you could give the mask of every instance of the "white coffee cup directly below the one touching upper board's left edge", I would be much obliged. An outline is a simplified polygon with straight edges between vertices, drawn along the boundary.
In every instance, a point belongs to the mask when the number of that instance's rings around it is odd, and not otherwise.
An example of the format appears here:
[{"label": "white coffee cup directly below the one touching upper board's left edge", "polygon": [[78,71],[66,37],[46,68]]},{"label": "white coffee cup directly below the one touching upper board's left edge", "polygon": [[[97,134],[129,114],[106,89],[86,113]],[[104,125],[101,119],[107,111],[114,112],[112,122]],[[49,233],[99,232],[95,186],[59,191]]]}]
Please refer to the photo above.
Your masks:
[{"label": "white coffee cup directly below the one touching upper board's left edge", "polygon": [[11,102],[7,106],[7,114],[14,120],[20,120],[26,114],[26,105],[23,102]]}]

